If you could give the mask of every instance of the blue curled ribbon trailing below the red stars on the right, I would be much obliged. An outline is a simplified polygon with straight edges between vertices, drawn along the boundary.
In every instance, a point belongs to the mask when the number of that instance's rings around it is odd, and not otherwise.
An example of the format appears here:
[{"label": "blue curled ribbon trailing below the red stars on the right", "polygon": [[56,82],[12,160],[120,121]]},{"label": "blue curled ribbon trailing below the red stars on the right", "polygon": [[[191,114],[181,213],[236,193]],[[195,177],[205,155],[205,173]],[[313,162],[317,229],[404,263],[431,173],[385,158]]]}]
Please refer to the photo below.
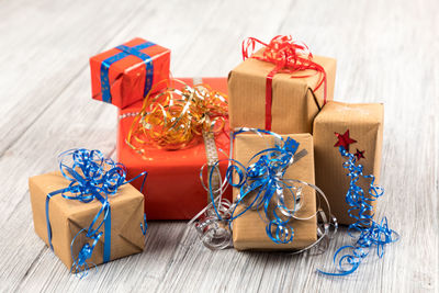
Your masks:
[{"label": "blue curled ribbon trailing below the red stars on the right", "polygon": [[[339,151],[347,159],[342,167],[349,171],[347,176],[350,177],[346,202],[351,206],[348,210],[349,216],[357,219],[357,222],[349,225],[348,234],[356,239],[356,243],[342,246],[335,252],[333,261],[338,272],[317,270],[319,273],[326,275],[350,274],[359,268],[361,261],[369,255],[373,247],[376,247],[376,255],[379,258],[382,258],[384,256],[384,246],[399,239],[399,235],[389,228],[386,217],[383,217],[380,224],[373,221],[371,202],[382,196],[384,190],[374,184],[375,178],[373,174],[363,174],[363,166],[356,165],[353,154],[348,153],[342,146],[339,147]],[[371,181],[368,191],[369,196],[357,185],[361,178],[370,179]]]}]

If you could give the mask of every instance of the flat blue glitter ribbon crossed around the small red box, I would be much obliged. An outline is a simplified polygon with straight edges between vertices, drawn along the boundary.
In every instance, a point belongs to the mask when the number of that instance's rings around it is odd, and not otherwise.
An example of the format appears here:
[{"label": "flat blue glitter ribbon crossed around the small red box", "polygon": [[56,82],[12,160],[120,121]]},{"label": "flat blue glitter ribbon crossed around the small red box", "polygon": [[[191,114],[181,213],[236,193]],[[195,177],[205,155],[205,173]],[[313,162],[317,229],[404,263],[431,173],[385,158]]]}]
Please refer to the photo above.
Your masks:
[{"label": "flat blue glitter ribbon crossed around the small red box", "polygon": [[153,87],[153,78],[154,78],[154,65],[153,59],[149,55],[140,52],[142,49],[154,46],[154,43],[145,42],[140,45],[128,47],[125,45],[117,46],[116,49],[120,49],[121,53],[104,59],[101,64],[101,91],[102,91],[102,101],[111,103],[111,86],[109,80],[109,70],[110,66],[126,56],[133,55],[142,59],[145,64],[145,87],[144,87],[144,97]]}]

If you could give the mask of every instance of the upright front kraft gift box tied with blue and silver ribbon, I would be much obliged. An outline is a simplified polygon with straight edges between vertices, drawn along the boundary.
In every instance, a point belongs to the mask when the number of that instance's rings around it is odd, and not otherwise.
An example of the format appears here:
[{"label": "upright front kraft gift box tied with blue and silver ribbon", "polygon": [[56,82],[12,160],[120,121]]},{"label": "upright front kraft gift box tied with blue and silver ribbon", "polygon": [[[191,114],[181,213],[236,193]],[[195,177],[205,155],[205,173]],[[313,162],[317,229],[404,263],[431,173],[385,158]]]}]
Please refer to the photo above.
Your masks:
[{"label": "upright front kraft gift box tied with blue and silver ribbon", "polygon": [[[259,187],[260,183],[257,181],[249,184],[250,188],[255,184],[258,185],[254,192],[259,196],[257,202],[260,201],[261,196],[264,196],[266,199],[268,194],[273,194],[272,198],[268,199],[270,204],[268,205],[267,212],[264,210],[264,204],[259,206],[257,210],[245,211],[246,206],[249,205],[249,202],[254,201],[254,195],[246,195],[248,199],[245,203],[244,201],[239,201],[239,194],[243,189],[234,189],[234,202],[239,202],[233,215],[233,244],[237,250],[303,249],[316,243],[317,240],[317,219],[315,217],[317,209],[316,193],[315,189],[307,185],[307,183],[314,184],[313,137],[309,134],[281,135],[281,137],[285,140],[288,138],[294,139],[294,143],[299,143],[297,150],[305,153],[303,150],[305,149],[307,154],[300,159],[295,157],[294,162],[288,167],[283,176],[275,176],[275,180],[279,180],[279,182],[275,184],[270,183],[269,188],[277,188],[278,191],[280,187],[283,189],[283,195],[281,196],[283,199],[282,202],[277,202],[277,200],[280,199],[277,198],[277,191],[261,191]],[[239,134],[235,138],[234,159],[244,164],[246,168],[250,168],[249,165],[256,161],[250,161],[250,159],[260,151],[266,149],[274,149],[277,143],[275,139],[277,138],[272,135],[261,136],[258,134]],[[267,153],[263,153],[262,156],[263,155],[267,155]],[[278,159],[280,158],[277,158],[277,160]],[[290,183],[288,179],[299,180],[302,181],[302,183]],[[262,177],[261,180],[263,181],[266,178]],[[234,182],[238,182],[237,176],[235,176]],[[263,184],[262,188],[267,188],[267,185]],[[288,192],[288,185],[290,185],[290,190],[293,190],[295,193],[294,196],[290,196],[292,194]],[[270,221],[272,223],[273,218],[275,219],[275,217],[282,217],[281,212],[278,209],[279,204],[281,204],[284,210],[296,210],[294,217],[297,219],[291,218],[283,226],[283,228],[274,232],[275,227],[273,225],[269,226],[268,224]],[[254,203],[254,206],[255,205],[258,205],[258,203]],[[277,206],[275,211],[274,206]],[[274,216],[273,213],[277,213],[277,216]],[[268,218],[266,216],[261,216],[262,214],[271,214],[272,216]],[[272,235],[272,238],[269,237],[269,234]],[[273,238],[283,238],[284,241]]]}]

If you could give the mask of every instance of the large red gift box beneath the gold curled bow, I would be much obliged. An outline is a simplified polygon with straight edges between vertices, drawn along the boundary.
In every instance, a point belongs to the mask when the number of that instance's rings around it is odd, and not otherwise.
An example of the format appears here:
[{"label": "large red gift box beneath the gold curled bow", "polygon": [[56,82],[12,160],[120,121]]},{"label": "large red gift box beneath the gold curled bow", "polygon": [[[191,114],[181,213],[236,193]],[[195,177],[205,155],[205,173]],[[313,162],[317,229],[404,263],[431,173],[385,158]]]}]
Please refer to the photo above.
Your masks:
[{"label": "large red gift box beneath the gold curled bow", "polygon": [[[227,93],[226,78],[180,79],[187,84],[205,83],[213,90]],[[206,150],[203,143],[179,149],[164,150],[148,148],[146,159],[132,149],[125,139],[132,126],[134,116],[140,111],[142,102],[119,111],[117,161],[127,168],[127,180],[143,171],[148,172],[145,194],[145,213],[148,219],[190,219],[207,205],[207,192],[200,182],[200,168],[206,164]],[[228,123],[227,123],[228,124]],[[216,148],[228,155],[229,137],[221,133],[215,137]],[[221,159],[227,158],[218,151]],[[206,170],[207,168],[205,168]],[[224,177],[227,161],[219,164]],[[206,172],[205,172],[206,173]],[[132,182],[140,189],[142,180]],[[232,189],[224,198],[232,200]]]}]

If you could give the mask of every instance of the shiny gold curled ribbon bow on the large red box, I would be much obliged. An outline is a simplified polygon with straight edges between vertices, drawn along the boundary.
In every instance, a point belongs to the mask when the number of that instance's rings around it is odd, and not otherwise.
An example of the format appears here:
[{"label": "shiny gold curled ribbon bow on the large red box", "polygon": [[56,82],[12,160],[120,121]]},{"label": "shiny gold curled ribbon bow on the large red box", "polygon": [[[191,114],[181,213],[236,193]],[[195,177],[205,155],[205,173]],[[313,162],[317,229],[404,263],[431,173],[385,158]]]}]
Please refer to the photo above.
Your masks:
[{"label": "shiny gold curled ribbon bow on the large red box", "polygon": [[145,146],[181,149],[196,143],[204,132],[219,133],[227,117],[227,95],[206,84],[189,87],[171,79],[157,94],[151,89],[135,116],[126,143],[142,155]]}]

